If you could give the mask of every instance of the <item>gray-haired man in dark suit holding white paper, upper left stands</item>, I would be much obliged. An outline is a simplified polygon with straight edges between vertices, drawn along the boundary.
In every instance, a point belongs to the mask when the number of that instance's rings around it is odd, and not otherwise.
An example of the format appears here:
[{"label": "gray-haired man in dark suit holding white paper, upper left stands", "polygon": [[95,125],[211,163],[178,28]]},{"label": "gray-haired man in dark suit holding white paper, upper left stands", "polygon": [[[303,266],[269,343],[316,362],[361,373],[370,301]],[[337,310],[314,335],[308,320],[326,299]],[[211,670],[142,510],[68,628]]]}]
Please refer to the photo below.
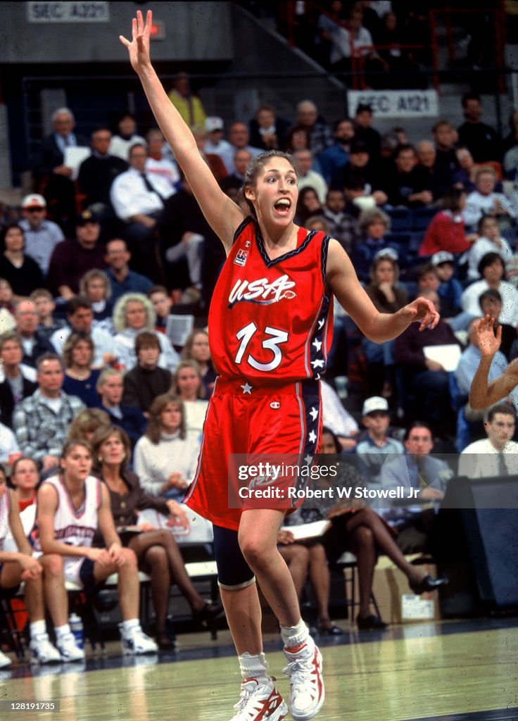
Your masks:
[{"label": "gray-haired man in dark suit holding white paper, upper left stands", "polygon": [[75,188],[71,167],[65,164],[68,147],[89,146],[88,138],[74,132],[76,120],[68,107],[58,107],[52,114],[53,132],[41,141],[34,166],[35,181],[46,181],[45,200],[48,211],[61,225],[76,214]]}]

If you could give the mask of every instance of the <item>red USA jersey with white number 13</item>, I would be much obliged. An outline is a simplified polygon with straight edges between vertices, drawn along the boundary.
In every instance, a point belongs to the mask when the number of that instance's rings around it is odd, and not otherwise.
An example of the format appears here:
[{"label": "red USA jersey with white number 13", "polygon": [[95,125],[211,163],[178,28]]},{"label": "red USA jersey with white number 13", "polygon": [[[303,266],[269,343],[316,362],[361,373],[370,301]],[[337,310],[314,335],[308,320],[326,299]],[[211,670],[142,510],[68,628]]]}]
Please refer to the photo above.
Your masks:
[{"label": "red USA jersey with white number 13", "polygon": [[300,228],[297,247],[270,260],[256,221],[239,226],[210,304],[220,376],[256,385],[320,378],[332,338],[328,247],[329,236]]}]

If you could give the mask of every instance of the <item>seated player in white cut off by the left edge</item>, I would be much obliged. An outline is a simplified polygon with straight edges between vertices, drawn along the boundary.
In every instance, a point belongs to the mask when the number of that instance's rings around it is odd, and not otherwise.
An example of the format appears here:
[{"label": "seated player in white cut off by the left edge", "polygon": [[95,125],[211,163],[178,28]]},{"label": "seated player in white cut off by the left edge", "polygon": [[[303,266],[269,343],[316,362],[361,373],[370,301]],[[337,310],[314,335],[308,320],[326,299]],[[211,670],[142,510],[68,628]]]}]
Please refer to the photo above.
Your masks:
[{"label": "seated player in white cut off by the left edge", "polygon": [[[30,623],[31,661],[61,663],[61,654],[48,640],[43,601],[42,567],[32,557],[32,548],[24,535],[18,501],[6,484],[0,466],[0,596],[14,596],[24,583],[24,599]],[[53,616],[53,609],[50,615]],[[0,668],[12,663],[0,650]]]}]

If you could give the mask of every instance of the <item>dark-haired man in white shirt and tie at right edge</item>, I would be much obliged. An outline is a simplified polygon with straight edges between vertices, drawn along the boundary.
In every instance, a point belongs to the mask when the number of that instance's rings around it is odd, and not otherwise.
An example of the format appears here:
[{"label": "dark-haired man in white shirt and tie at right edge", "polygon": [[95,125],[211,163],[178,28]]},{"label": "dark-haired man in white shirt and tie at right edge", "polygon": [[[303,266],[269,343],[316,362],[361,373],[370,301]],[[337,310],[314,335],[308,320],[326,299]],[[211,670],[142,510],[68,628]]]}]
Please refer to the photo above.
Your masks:
[{"label": "dark-haired man in white shirt and tie at right edge", "polygon": [[459,476],[484,478],[518,474],[518,443],[512,441],[516,415],[512,405],[499,403],[488,410],[487,438],[466,446],[459,456]]}]

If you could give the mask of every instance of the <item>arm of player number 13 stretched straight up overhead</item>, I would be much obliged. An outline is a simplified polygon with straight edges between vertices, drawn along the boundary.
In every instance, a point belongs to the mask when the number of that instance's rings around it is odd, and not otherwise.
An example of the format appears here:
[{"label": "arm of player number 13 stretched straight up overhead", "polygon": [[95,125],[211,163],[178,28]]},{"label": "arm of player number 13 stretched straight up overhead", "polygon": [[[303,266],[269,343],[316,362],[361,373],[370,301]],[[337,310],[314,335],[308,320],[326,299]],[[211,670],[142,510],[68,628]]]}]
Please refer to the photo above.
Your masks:
[{"label": "arm of player number 13 stretched straight up overhead", "polygon": [[212,172],[197,149],[196,141],[189,127],[166,95],[149,56],[152,13],[148,10],[146,23],[142,13],[137,11],[133,18],[132,40],[120,35],[120,41],[130,54],[130,62],[140,78],[156,122],[166,137],[174,157],[182,168],[195,198],[200,204],[208,224],[223,242],[225,249],[231,248],[233,234],[244,218],[240,208],[220,189]]}]

